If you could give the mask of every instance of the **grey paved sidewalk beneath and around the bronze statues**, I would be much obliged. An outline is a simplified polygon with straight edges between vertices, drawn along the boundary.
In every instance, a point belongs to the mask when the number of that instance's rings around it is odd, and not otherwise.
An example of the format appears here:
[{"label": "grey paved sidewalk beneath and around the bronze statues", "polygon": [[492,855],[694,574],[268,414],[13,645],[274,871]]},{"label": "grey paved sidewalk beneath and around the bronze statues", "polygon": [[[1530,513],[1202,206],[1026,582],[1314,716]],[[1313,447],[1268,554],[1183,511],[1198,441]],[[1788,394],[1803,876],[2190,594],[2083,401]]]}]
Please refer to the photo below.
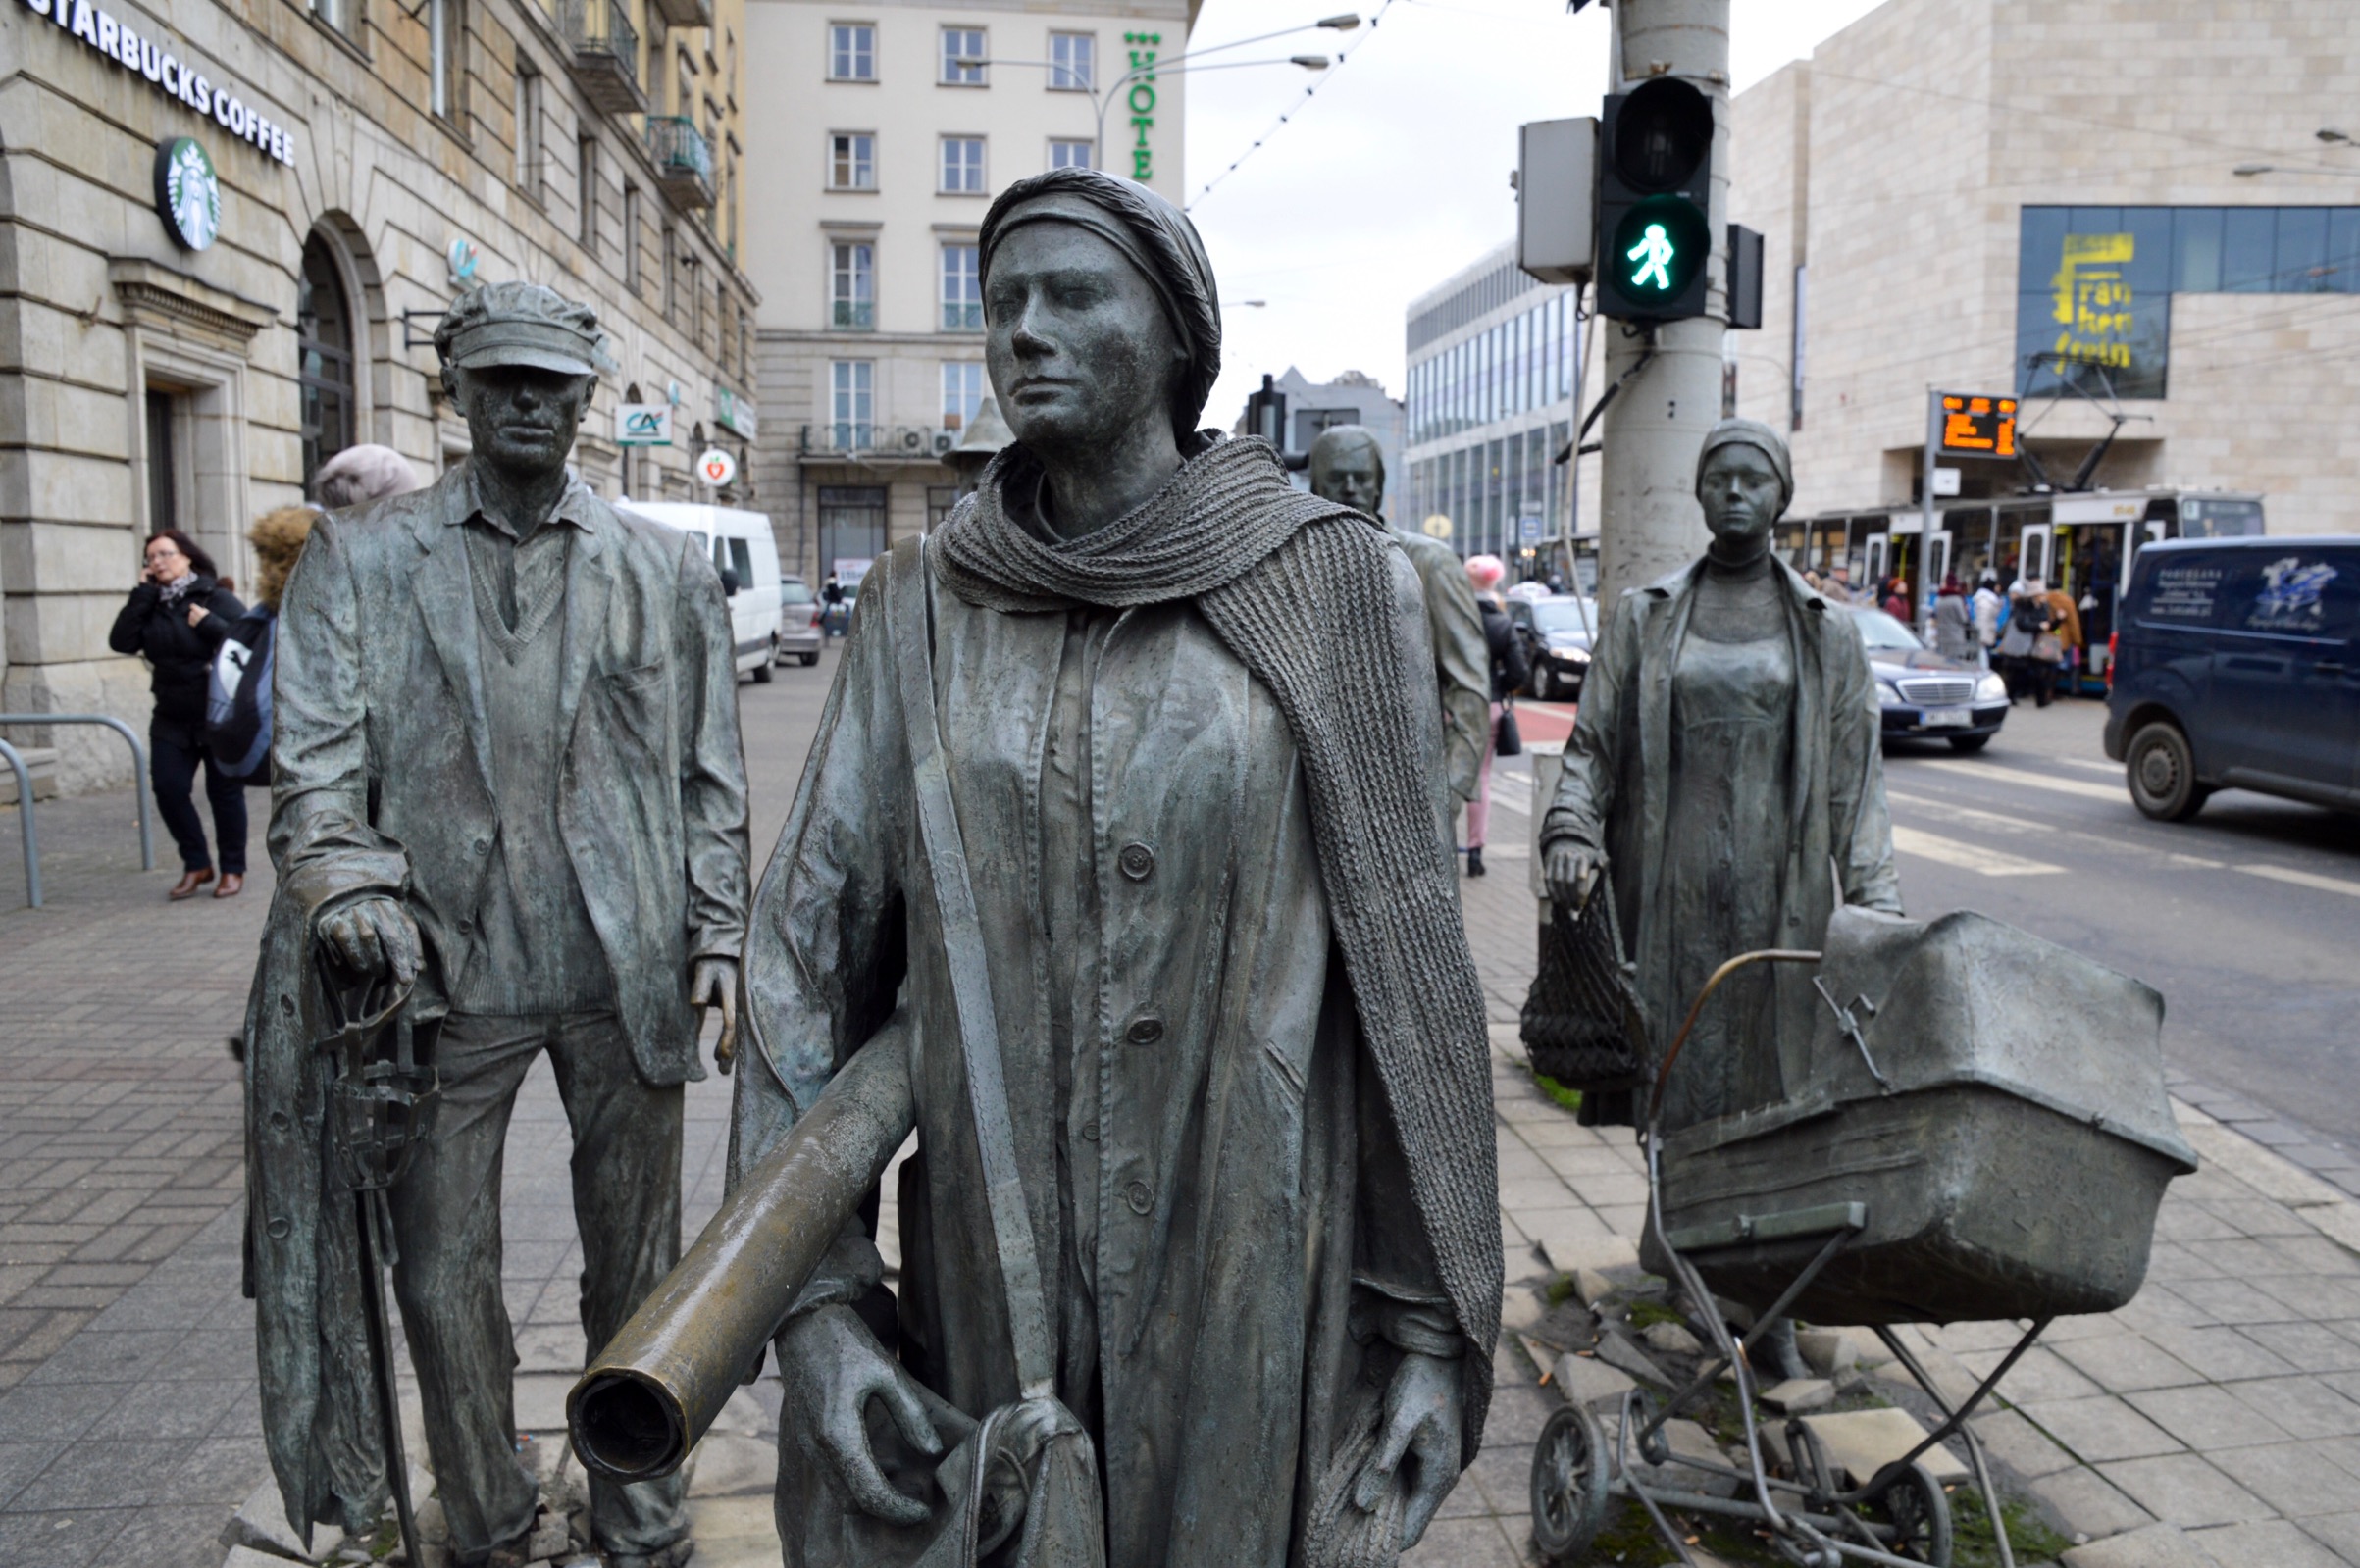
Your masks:
[{"label": "grey paved sidewalk beneath and around the bronze statues", "polygon": [[[767,854],[828,665],[743,689],[755,849]],[[1534,726],[1527,724],[1527,736]],[[1494,1019],[1501,1233],[1513,1323],[1560,1264],[1619,1257],[1645,1184],[1626,1132],[1576,1127],[1517,1063],[1534,903],[1503,764],[1468,934]],[[269,896],[168,905],[139,875],[123,795],[45,802],[50,908],[0,908],[0,1563],[212,1568],[217,1533],[264,1485],[253,1309],[238,1294],[238,1096],[222,1040],[243,1009]],[[5,811],[0,811],[5,816]],[[21,887],[0,821],[0,889]],[[689,1092],[689,1226],[720,1198],[725,1078]],[[2053,1523],[2072,1568],[2360,1563],[2360,1205],[2332,1151],[2233,1094],[2178,1082],[2207,1170],[2174,1186],[2148,1290],[2060,1323],[2001,1384],[1980,1431]],[[536,1068],[507,1148],[517,1419],[555,1462],[583,1344],[566,1127]],[[2282,1158],[2289,1151],[2296,1158]],[[887,1214],[890,1224],[890,1214]],[[1621,1238],[1621,1240],[1617,1240]],[[1919,1337],[1935,1375],[1997,1363],[2006,1325]],[[1558,1401],[1510,1335],[1484,1452],[1416,1568],[1529,1563],[1529,1445]],[[413,1455],[422,1452],[411,1415]],[[776,1379],[741,1391],[699,1455],[699,1563],[779,1561],[769,1526]],[[238,1556],[241,1568],[257,1559]],[[260,1559],[269,1561],[269,1559]]]}]

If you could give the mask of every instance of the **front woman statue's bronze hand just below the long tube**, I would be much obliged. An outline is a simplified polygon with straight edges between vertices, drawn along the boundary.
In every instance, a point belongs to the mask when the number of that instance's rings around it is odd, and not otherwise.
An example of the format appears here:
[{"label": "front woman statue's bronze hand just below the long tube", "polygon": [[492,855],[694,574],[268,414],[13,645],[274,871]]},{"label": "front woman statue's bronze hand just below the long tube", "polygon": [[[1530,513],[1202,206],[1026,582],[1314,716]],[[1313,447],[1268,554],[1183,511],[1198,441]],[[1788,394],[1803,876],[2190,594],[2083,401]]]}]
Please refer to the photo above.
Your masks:
[{"label": "front woman statue's bronze hand just below the long tube", "polygon": [[821,1306],[779,1335],[779,1377],[786,1384],[781,1431],[793,1431],[807,1464],[824,1474],[864,1514],[899,1526],[925,1523],[927,1507],[897,1493],[868,1450],[868,1401],[885,1401],[885,1415],[923,1452],[939,1455],[942,1438],[909,1382],[902,1363],[868,1332],[850,1306]]}]

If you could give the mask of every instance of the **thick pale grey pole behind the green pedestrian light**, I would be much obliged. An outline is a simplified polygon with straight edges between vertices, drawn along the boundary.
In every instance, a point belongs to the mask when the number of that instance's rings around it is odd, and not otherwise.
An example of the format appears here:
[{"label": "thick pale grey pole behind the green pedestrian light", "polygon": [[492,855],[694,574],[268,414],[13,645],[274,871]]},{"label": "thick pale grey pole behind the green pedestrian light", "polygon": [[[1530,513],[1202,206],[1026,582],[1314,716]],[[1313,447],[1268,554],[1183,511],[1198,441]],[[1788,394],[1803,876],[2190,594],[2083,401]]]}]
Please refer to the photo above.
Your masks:
[{"label": "thick pale grey pole behind the green pedestrian light", "polygon": [[[1730,0],[1617,0],[1607,92],[1673,75],[1713,101],[1713,179],[1706,314],[1652,328],[1593,321],[1605,384],[1621,391],[1602,413],[1598,604],[1694,561],[1706,545],[1697,507],[1697,453],[1720,420],[1720,344],[1728,330]],[[1605,250],[1610,236],[1600,233]],[[1600,266],[1610,257],[1600,255]],[[1647,363],[1640,365],[1640,358]],[[1633,368],[1638,375],[1631,375]],[[1628,377],[1628,380],[1624,380]]]}]

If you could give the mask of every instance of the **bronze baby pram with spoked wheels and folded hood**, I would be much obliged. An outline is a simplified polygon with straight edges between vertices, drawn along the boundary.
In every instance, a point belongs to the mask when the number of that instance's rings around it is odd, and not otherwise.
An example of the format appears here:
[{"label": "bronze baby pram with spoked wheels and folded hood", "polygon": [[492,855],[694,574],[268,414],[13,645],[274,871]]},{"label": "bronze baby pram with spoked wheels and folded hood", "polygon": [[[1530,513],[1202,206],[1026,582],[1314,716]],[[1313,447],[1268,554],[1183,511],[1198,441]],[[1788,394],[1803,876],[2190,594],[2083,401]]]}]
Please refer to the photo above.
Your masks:
[{"label": "bronze baby pram with spoked wheels and folded hood", "polygon": [[[1602,901],[1600,901],[1602,903]],[[1808,1042],[1782,1042],[1775,1103],[1661,1132],[1661,1087],[1713,988],[1763,962],[1815,964],[1824,1000]],[[1579,1563],[1612,1497],[1640,1502],[1680,1561],[1666,1509],[1765,1528],[1794,1563],[1947,1563],[1949,1504],[1916,1460],[1964,1438],[2013,1563],[1989,1469],[1966,1417],[2051,1318],[2112,1311],[2148,1271],[2164,1186],[2195,1170],[2162,1075],[2162,997],[2025,931],[1959,913],[1919,924],[1838,910],[1824,953],[1746,953],[1697,995],[1643,1101],[1647,1233],[1640,1259],[1673,1280],[1706,1342],[1669,1401],[1624,1396],[1610,1445],[1598,1417],[1551,1415],[1532,1462],[1534,1540]],[[1539,1054],[1536,1054],[1539,1056]],[[1728,1304],[1753,1316],[1742,1339]],[[1812,1429],[1763,1460],[1749,1351],[1772,1320],[1871,1327],[1942,1412],[1862,1485]],[[2013,1318],[2030,1327],[1964,1401],[1947,1401],[1897,1323]],[[1744,1462],[1673,1452],[1664,1427],[1735,1375]],[[1694,1485],[1643,1481],[1694,1471]],[[1735,1497],[1709,1495],[1730,1490]]]}]

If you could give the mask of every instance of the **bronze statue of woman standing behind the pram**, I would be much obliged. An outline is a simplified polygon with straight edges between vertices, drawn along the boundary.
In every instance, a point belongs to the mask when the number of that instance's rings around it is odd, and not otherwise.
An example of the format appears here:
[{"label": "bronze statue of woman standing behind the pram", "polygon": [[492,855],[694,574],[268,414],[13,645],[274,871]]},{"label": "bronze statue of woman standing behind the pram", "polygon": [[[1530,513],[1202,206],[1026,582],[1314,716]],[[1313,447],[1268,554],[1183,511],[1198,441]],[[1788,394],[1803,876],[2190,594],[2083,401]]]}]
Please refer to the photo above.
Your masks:
[{"label": "bronze statue of woman standing behind the pram", "polygon": [[[1770,427],[1704,439],[1713,542],[1614,606],[1541,823],[1560,908],[1605,877],[1659,1049],[1723,960],[1817,948],[1836,905],[1900,913],[1860,632],[1770,549],[1791,495]],[[1725,983],[1673,1063],[1664,1129],[1777,1101],[1779,1052],[1808,1045],[1815,1007],[1794,964]]]}]

